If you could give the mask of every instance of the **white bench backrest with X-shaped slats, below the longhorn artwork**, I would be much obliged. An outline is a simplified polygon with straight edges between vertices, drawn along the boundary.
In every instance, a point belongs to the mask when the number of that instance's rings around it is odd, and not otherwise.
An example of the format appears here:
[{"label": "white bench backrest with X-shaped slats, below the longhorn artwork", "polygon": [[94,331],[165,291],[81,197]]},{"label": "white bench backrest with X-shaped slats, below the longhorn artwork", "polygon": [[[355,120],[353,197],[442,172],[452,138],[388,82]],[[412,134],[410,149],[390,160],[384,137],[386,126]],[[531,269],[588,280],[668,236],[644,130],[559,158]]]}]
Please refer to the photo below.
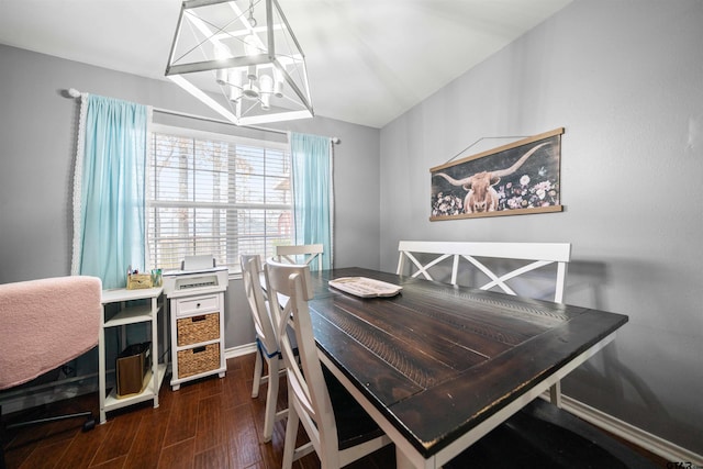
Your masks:
[{"label": "white bench backrest with X-shaped slats, below the longhorn artwork", "polygon": [[[451,263],[451,284],[457,284],[459,273],[459,260],[464,259],[475,269],[488,277],[489,281],[484,284],[475,284],[472,287],[481,290],[490,290],[494,287],[500,288],[509,294],[516,294],[515,291],[507,286],[507,280],[525,276],[535,269],[556,264],[557,272],[554,280],[554,301],[563,302],[567,265],[571,258],[571,244],[569,243],[462,243],[462,242],[426,242],[426,241],[401,241],[398,244],[398,275],[404,275],[406,270],[412,271],[414,265],[415,271],[412,277],[422,275],[427,280],[434,280],[429,270],[437,268],[439,265],[446,267],[447,263]],[[431,255],[429,259],[423,258],[419,260],[420,254]],[[405,259],[410,259],[412,265],[405,267]],[[520,264],[517,267],[511,264],[511,270],[506,272],[496,271],[493,264],[481,261],[479,259],[507,259]],[[466,263],[464,263],[466,264]],[[464,266],[462,266],[464,267]]]}]

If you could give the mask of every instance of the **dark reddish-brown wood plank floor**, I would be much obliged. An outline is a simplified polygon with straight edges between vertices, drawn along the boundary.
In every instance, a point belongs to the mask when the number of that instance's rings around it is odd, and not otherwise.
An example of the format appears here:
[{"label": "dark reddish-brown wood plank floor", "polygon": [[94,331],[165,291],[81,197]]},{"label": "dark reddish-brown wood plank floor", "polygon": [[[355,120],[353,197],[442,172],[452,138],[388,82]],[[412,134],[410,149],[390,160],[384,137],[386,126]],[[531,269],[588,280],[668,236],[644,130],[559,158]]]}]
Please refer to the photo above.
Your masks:
[{"label": "dark reddish-brown wood plank floor", "polygon": [[[259,443],[266,388],[252,399],[254,355],[227,360],[224,379],[216,377],[181,384],[172,392],[165,382],[160,405],[149,403],[108,414],[108,422],[81,432],[82,420],[22,428],[5,435],[8,469],[26,468],[280,468],[284,421],[275,427],[271,443]],[[284,382],[281,389],[286,389]],[[286,405],[280,392],[279,406]],[[48,413],[91,410],[98,415],[96,393],[52,404]],[[3,420],[11,423],[14,415]],[[304,440],[303,432],[299,438]],[[507,449],[507,448],[506,448]],[[659,467],[665,461],[654,458]],[[392,445],[349,466],[352,469],[395,467]],[[320,468],[312,454],[295,469]]]}]

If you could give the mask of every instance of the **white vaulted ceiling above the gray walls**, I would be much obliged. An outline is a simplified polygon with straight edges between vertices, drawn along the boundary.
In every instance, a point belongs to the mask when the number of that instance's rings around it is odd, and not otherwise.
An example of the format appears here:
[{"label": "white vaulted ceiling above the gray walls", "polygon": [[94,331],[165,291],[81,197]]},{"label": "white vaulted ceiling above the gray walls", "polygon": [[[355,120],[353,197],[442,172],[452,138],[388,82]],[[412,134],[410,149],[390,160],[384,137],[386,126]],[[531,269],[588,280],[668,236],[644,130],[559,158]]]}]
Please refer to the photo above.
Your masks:
[{"label": "white vaulted ceiling above the gray walls", "polygon": [[[315,114],[382,127],[570,1],[279,0],[279,4],[306,57]],[[180,3],[0,0],[0,43],[165,79]]]}]

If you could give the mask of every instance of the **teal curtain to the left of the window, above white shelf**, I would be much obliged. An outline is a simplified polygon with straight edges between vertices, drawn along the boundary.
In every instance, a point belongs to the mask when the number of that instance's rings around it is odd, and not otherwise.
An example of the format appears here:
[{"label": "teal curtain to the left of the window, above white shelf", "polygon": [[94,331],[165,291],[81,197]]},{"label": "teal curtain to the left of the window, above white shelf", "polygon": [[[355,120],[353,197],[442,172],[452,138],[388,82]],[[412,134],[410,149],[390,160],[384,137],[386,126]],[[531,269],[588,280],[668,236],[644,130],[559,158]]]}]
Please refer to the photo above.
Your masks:
[{"label": "teal curtain to the left of the window, above white shelf", "polygon": [[145,166],[150,108],[81,96],[74,178],[71,273],[124,288],[145,261]]}]

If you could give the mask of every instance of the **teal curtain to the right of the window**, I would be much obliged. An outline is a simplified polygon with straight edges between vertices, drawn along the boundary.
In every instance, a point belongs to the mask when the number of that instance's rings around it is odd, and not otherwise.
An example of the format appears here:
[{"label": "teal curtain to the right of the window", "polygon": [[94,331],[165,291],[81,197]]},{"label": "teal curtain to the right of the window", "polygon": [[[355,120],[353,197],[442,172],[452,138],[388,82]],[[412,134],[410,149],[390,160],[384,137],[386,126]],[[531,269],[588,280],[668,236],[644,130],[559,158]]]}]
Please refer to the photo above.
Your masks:
[{"label": "teal curtain to the right of the window", "polygon": [[322,244],[323,269],[333,265],[334,201],[332,142],[328,137],[291,133],[295,244]]}]

